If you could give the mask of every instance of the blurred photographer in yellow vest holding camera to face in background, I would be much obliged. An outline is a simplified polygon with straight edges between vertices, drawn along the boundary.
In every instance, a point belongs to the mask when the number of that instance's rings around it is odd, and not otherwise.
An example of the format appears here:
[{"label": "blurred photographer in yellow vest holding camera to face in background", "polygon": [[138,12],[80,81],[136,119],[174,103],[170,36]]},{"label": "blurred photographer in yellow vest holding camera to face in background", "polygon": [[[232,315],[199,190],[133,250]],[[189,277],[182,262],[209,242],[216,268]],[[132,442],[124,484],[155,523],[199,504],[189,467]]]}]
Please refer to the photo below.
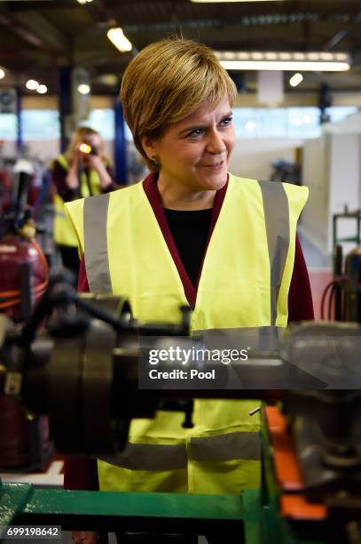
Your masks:
[{"label": "blurred photographer in yellow vest holding camera to face in background", "polygon": [[51,164],[51,180],[55,191],[54,240],[64,267],[77,277],[77,239],[64,212],[64,203],[107,193],[118,187],[110,161],[104,155],[100,134],[90,127],[77,128],[67,151]]}]

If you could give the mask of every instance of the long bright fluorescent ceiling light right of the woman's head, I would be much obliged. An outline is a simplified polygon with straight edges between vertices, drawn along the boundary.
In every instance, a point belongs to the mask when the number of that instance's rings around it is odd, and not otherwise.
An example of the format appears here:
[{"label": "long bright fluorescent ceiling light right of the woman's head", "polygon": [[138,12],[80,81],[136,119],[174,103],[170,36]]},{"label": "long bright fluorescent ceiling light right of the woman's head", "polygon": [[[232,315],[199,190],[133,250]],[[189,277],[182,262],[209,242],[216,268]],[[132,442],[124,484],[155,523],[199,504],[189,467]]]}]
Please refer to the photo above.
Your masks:
[{"label": "long bright fluorescent ceiling light right of the woman's head", "polygon": [[216,52],[226,70],[292,70],[345,72],[350,68],[348,53],[331,52]]}]

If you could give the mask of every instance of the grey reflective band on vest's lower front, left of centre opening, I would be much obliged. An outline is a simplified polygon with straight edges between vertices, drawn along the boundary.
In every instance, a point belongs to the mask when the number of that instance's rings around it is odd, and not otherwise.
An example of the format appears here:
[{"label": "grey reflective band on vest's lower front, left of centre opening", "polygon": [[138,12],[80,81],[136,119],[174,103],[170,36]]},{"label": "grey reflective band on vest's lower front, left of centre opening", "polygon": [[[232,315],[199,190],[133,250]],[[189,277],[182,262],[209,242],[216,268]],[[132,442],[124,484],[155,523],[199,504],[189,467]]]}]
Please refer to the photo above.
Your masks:
[{"label": "grey reflective band on vest's lower front, left of centre opening", "polygon": [[102,457],[107,463],[130,470],[174,470],[187,467],[185,444],[130,444],[116,457]]}]

